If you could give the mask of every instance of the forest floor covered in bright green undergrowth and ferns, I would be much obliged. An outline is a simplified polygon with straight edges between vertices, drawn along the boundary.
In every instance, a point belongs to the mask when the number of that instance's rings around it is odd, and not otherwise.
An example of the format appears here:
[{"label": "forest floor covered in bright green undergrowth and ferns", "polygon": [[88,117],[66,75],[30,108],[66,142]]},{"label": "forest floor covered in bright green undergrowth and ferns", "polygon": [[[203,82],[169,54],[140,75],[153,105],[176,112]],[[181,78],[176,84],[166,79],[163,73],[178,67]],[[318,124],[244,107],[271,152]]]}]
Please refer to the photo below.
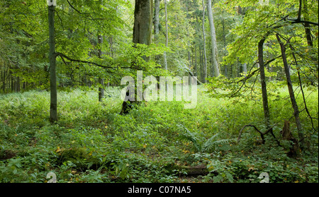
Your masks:
[{"label": "forest floor covered in bright green undergrowth and ferns", "polygon": [[[301,122],[306,149],[288,157],[290,144],[265,131],[260,97],[212,98],[198,88],[196,109],[184,102],[144,102],[120,115],[118,88],[97,92],[60,91],[57,124],[50,124],[50,92],[0,95],[0,182],[44,183],[54,172],[57,181],[105,183],[180,183],[262,181],[318,183],[318,132],[306,112]],[[318,116],[318,92],[307,104]],[[280,139],[284,120],[296,134],[288,92],[269,96],[274,134]],[[299,96],[298,104],[303,109]],[[317,117],[318,118],[318,117]],[[314,119],[318,131],[318,119]]]}]

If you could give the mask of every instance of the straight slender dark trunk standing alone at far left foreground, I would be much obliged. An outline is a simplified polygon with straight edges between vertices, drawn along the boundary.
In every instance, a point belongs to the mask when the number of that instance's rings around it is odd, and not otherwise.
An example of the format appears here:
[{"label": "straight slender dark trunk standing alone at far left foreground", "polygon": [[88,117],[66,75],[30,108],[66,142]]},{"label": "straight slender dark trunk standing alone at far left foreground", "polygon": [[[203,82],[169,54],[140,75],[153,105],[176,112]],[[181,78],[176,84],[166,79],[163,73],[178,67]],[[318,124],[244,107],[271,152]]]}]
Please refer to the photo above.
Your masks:
[{"label": "straight slender dark trunk standing alone at far left foreground", "polygon": [[55,71],[55,6],[49,10],[49,45],[50,45],[50,121],[57,121],[57,76]]}]

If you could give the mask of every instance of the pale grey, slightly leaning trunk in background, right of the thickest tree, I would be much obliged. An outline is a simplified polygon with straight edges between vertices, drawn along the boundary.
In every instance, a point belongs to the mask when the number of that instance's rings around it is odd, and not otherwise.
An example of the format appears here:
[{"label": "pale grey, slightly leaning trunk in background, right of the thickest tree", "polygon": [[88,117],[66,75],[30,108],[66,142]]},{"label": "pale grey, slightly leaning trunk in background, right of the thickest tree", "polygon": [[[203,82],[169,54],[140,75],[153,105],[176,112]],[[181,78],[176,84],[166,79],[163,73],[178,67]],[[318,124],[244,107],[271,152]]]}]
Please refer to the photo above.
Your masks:
[{"label": "pale grey, slightly leaning trunk in background, right of the thickest tree", "polygon": [[209,26],[211,30],[211,54],[212,54],[212,63],[213,63],[213,71],[216,77],[220,76],[220,68],[217,61],[218,56],[218,49],[217,49],[217,41],[216,41],[216,30],[213,20],[213,11],[212,11],[212,5],[211,0],[208,0],[208,20],[209,20]]}]

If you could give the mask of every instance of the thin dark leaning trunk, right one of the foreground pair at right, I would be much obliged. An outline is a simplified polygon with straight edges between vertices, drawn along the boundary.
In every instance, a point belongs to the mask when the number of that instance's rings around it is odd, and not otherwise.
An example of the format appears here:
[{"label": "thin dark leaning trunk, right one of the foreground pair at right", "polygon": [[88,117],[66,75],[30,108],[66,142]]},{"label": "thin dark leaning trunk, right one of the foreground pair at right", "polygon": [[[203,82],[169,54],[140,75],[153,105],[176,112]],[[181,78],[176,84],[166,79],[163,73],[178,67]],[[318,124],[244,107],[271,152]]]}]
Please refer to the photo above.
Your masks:
[{"label": "thin dark leaning trunk, right one of the foreground pair at right", "polygon": [[[278,34],[276,34],[277,40],[280,44],[281,47],[281,57],[282,61],[284,63],[284,69],[286,73],[286,80],[287,80],[287,86],[289,90],[289,95],[290,95],[290,100],[291,100],[291,105],[293,106],[293,115],[296,120],[296,125],[297,125],[297,130],[298,130],[298,137],[299,139],[303,139],[303,129],[301,126],[301,121],[299,118],[299,109],[298,109],[298,104],[296,102],[296,98],[293,92],[293,85],[291,83],[291,78],[290,78],[290,72],[289,72],[289,66],[287,63],[287,57],[286,57],[286,47],[284,46],[284,43],[281,42],[281,39]],[[301,147],[303,147],[303,141],[301,141]]]}]

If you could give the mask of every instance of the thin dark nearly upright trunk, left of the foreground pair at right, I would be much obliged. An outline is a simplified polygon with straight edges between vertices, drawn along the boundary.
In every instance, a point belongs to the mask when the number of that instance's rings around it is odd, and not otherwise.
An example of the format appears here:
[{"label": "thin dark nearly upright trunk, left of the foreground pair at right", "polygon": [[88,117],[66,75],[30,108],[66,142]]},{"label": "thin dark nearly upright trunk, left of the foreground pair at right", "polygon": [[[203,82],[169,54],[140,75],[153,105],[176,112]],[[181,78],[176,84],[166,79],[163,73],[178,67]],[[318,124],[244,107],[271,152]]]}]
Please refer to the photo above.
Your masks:
[{"label": "thin dark nearly upright trunk, left of the foreground pair at right", "polygon": [[270,113],[268,106],[268,95],[267,95],[267,85],[266,85],[266,76],[264,73],[264,42],[265,38],[259,41],[258,43],[258,61],[260,69],[260,80],[262,83],[262,105],[264,107],[264,119],[266,121],[267,129],[270,127]]}]

